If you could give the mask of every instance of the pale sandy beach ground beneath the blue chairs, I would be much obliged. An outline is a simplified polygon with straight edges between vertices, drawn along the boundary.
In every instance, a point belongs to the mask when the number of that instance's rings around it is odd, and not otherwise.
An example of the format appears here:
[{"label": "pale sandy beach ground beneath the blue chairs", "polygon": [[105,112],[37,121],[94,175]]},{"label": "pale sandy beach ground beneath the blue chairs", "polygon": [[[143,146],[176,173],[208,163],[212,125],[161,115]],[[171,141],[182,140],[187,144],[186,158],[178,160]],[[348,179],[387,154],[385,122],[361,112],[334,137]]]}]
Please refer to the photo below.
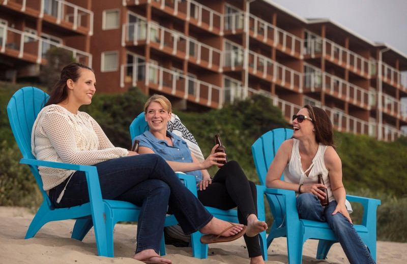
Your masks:
[{"label": "pale sandy beach ground beneath the blue chairs", "polygon": [[[117,224],[114,228],[114,258],[97,255],[93,229],[83,241],[71,239],[74,220],[50,222],[32,239],[24,239],[34,213],[27,208],[0,207],[0,263],[142,263],[131,257],[135,250],[136,225]],[[349,263],[336,243],[325,260],[315,259],[317,241],[308,240],[303,248],[303,263]],[[377,263],[407,263],[407,243],[377,242]],[[173,263],[244,264],[249,263],[243,238],[209,246],[208,259],[192,257],[190,248],[166,246]],[[273,241],[268,249],[270,264],[288,263],[285,238]]]}]

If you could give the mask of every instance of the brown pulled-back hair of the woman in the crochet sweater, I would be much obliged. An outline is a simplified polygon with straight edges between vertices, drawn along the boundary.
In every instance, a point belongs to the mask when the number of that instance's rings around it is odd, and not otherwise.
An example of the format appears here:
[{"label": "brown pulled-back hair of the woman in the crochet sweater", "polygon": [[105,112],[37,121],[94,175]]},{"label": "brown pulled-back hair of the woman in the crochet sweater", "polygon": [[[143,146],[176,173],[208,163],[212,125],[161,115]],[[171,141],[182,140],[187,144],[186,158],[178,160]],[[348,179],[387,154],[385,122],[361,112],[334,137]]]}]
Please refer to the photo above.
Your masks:
[{"label": "brown pulled-back hair of the woman in the crochet sweater", "polygon": [[76,82],[80,77],[80,69],[93,70],[86,65],[71,62],[64,67],[61,71],[60,79],[55,83],[51,92],[49,93],[49,100],[45,106],[59,104],[68,97],[67,81],[71,79]]}]

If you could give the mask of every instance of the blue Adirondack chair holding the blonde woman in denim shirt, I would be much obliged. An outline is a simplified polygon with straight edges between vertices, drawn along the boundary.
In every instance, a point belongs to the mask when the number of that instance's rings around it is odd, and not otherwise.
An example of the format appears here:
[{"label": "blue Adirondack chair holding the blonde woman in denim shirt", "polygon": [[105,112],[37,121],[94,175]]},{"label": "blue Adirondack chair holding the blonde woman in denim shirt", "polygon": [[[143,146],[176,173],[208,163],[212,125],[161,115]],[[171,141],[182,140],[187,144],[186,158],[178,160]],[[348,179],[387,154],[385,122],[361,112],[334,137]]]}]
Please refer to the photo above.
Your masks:
[{"label": "blue Adirondack chair holding the blonde woman in denim shirt", "polygon": [[[148,130],[149,126],[144,119],[144,112],[140,113],[131,123],[130,125],[130,136],[133,140],[136,136],[141,135],[144,131]],[[192,175],[184,175],[185,177],[190,177],[191,180],[195,181],[195,177]],[[263,192],[265,190],[265,186],[257,185],[257,217],[260,221],[265,221],[265,211],[264,211],[264,198]],[[192,193],[197,196],[196,186],[188,187]],[[238,223],[238,215],[237,210],[221,210],[213,207],[206,207],[208,211],[214,215],[215,217],[222,219],[224,221],[235,222]],[[267,247],[266,247],[266,231],[261,232],[260,236],[260,248],[261,254],[263,255],[264,260],[267,260]],[[191,235],[191,247],[192,247],[192,254],[196,258],[208,258],[208,245],[201,244],[199,239],[201,234],[196,232]],[[164,243],[162,240],[161,244]],[[161,245],[163,248],[163,245]]]}]

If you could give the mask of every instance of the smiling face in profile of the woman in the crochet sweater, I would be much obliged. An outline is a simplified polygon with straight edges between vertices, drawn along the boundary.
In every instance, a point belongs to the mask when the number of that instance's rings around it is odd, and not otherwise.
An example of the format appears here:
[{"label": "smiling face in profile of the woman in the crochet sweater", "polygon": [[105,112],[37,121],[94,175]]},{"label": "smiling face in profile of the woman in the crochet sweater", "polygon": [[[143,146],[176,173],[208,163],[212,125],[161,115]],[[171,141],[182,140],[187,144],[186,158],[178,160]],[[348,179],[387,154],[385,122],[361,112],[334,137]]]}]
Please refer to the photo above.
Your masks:
[{"label": "smiling face in profile of the woman in the crochet sweater", "polygon": [[80,69],[79,71],[80,76],[76,82],[72,79],[67,81],[68,89],[72,91],[70,101],[78,107],[91,104],[92,97],[96,92],[95,74],[88,69]]}]

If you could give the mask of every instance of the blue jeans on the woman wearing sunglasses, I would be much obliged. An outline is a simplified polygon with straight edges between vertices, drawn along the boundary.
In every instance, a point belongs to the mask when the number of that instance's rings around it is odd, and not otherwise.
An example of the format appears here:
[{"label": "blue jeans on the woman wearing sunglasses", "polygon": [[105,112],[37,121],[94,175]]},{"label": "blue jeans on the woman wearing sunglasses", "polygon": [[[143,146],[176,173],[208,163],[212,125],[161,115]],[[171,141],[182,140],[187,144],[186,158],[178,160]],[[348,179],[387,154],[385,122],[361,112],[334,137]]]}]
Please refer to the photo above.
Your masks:
[{"label": "blue jeans on the woman wearing sunglasses", "polygon": [[328,222],[351,264],[375,263],[353,224],[341,213],[332,215],[336,205],[336,201],[332,201],[323,208],[318,197],[311,193],[302,193],[297,197],[298,216],[302,219]]}]

